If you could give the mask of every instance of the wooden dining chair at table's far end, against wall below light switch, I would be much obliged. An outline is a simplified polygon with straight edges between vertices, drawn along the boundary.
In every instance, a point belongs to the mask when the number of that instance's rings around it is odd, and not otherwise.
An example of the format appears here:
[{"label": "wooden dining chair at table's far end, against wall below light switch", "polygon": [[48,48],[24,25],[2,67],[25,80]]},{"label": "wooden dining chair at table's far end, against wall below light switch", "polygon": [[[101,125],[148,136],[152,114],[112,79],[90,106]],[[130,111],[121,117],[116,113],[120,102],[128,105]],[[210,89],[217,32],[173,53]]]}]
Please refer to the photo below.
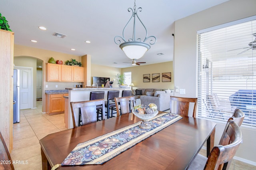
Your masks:
[{"label": "wooden dining chair at table's far end, against wall below light switch", "polygon": [[[193,117],[196,117],[197,98],[170,97],[170,111],[172,111],[172,101],[176,101],[176,113],[188,116],[189,103],[194,103]],[[175,106],[175,103],[174,103]]]}]

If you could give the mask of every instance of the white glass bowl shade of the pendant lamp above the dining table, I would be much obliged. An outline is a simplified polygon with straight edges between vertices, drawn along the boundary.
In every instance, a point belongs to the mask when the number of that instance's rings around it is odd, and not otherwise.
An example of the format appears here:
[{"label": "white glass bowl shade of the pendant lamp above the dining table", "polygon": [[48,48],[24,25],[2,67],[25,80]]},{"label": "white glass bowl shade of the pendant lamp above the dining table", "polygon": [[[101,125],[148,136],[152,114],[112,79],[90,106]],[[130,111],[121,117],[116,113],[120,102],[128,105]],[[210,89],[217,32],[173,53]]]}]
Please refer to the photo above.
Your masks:
[{"label": "white glass bowl shade of the pendant lamp above the dining table", "polygon": [[120,48],[128,58],[139,59],[150,49],[150,45],[143,42],[124,42],[120,44]]}]

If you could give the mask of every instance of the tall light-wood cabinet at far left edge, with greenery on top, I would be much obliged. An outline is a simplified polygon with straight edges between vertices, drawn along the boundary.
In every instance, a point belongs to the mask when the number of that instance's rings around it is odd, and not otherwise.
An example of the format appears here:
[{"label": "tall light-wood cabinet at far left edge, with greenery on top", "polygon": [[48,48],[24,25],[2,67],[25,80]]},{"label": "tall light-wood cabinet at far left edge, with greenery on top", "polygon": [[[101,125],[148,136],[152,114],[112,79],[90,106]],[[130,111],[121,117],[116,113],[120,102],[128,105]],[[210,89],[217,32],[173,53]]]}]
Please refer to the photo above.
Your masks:
[{"label": "tall light-wood cabinet at far left edge, with greenery on top", "polygon": [[9,152],[13,143],[13,45],[14,32],[0,30],[0,131]]}]

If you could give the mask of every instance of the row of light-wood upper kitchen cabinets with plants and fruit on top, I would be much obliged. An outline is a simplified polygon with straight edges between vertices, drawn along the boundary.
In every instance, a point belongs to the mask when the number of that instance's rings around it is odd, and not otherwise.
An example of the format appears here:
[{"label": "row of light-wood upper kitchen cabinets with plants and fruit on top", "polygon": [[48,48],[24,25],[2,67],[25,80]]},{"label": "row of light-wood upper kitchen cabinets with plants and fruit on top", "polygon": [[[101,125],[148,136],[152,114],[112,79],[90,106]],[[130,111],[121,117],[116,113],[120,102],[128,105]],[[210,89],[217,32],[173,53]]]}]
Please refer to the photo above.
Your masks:
[{"label": "row of light-wood upper kitchen cabinets with plants and fruit on top", "polygon": [[60,64],[46,64],[47,81],[84,82],[84,67]]}]

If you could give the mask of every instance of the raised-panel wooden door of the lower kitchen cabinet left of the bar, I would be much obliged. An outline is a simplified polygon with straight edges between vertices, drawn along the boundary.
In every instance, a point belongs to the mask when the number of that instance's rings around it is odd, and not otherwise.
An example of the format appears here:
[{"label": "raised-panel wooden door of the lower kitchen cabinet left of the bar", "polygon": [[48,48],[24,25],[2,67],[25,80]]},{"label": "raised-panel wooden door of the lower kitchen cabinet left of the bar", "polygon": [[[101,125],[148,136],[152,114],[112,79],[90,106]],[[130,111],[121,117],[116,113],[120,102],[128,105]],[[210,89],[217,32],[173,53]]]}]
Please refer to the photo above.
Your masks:
[{"label": "raised-panel wooden door of the lower kitchen cabinet left of the bar", "polygon": [[62,111],[63,94],[50,95],[50,113]]}]

